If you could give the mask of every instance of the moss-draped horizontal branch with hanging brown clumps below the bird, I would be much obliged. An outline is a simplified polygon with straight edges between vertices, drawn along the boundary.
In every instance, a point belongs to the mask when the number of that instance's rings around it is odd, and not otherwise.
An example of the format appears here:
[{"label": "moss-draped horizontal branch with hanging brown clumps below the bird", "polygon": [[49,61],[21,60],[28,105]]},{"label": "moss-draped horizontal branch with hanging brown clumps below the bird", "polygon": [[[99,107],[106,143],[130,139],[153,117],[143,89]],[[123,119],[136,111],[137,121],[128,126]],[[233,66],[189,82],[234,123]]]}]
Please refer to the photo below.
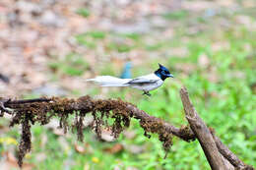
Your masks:
[{"label": "moss-draped horizontal branch with hanging brown clumps below the bird", "polygon": [[[181,98],[182,97],[188,98],[187,92],[181,92]],[[183,103],[183,105],[184,108],[187,107],[186,104]],[[79,141],[83,141],[84,139],[83,120],[87,114],[93,115],[94,129],[96,135],[99,137],[101,135],[102,126],[108,127],[112,131],[113,137],[117,138],[125,128],[130,126],[130,120],[132,118],[137,119],[139,120],[140,126],[144,129],[144,135],[146,137],[150,138],[150,133],[159,135],[160,142],[162,142],[163,149],[166,153],[172,145],[173,136],[176,136],[185,142],[197,139],[197,136],[190,127],[182,126],[181,128],[176,128],[170,123],[151,116],[145,111],[138,109],[135,105],[120,99],[93,99],[88,95],[78,99],[49,97],[30,100],[11,100],[0,98],[0,112],[12,114],[13,118],[10,122],[11,127],[14,125],[22,125],[22,139],[19,145],[18,154],[20,166],[23,164],[25,154],[31,150],[31,126],[35,122],[40,125],[46,125],[54,116],[60,118],[59,125],[65,132],[71,127],[72,129],[76,129]],[[2,115],[3,114],[0,114],[0,116]],[[67,121],[71,115],[75,115],[73,125],[70,125]],[[111,125],[107,121],[109,119],[113,120]],[[216,137],[215,135],[213,136]],[[224,147],[223,143],[223,145],[218,145],[218,143],[221,142],[220,139],[216,137],[214,140],[219,150],[223,148],[227,149],[227,151],[220,152],[233,167],[239,169],[250,168],[250,166],[247,166],[240,161],[237,156],[233,156],[234,158],[237,158],[234,161],[236,163],[233,163],[232,159],[227,158],[233,153],[227,147]],[[228,153],[228,155],[225,155],[226,153]]]}]

